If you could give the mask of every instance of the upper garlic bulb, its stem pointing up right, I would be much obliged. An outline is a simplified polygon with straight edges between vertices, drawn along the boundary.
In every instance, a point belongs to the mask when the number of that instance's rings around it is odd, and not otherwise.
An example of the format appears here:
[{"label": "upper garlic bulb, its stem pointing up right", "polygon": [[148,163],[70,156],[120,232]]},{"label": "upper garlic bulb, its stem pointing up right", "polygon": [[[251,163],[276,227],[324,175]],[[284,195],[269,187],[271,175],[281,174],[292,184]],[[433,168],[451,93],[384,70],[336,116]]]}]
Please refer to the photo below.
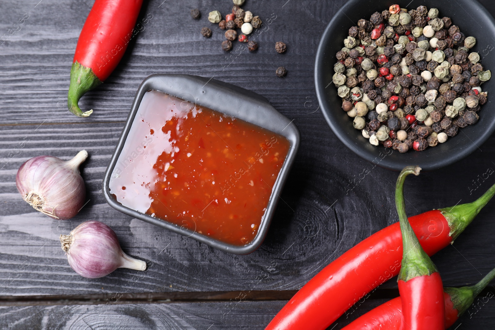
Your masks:
[{"label": "upper garlic bulb, its stem pointing up right", "polygon": [[53,219],[70,219],[81,210],[86,199],[86,187],[79,172],[79,165],[86,158],[88,152],[82,150],[69,161],[53,156],[28,159],[17,171],[17,190],[35,210]]}]

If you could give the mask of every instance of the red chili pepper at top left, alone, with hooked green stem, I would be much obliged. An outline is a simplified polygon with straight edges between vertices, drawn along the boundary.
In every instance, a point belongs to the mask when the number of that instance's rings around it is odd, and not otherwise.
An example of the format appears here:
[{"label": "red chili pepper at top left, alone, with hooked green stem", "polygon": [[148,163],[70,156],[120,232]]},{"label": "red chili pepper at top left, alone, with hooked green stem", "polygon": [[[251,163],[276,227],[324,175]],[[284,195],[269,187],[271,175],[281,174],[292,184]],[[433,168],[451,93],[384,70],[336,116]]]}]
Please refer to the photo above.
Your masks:
[{"label": "red chili pepper at top left, alone, with hooked green stem", "polygon": [[143,0],[96,0],[77,41],[70,70],[67,99],[69,110],[88,117],[93,110],[77,105],[83,94],[94,89],[112,73],[133,36]]}]

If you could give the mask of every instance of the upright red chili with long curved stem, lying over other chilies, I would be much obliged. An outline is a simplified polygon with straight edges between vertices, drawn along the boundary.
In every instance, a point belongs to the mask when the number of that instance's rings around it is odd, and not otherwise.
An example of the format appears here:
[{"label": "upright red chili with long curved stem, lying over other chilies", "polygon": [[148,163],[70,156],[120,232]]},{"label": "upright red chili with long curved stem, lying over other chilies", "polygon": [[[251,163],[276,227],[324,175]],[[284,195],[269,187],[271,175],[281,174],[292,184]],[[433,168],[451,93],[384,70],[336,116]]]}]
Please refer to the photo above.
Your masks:
[{"label": "upright red chili with long curved stem, lying over other chilies", "polygon": [[402,298],[401,330],[445,330],[444,285],[440,273],[419,244],[405,215],[404,181],[419,175],[419,166],[407,166],[396,183],[396,209],[402,233],[402,262],[397,279]]}]

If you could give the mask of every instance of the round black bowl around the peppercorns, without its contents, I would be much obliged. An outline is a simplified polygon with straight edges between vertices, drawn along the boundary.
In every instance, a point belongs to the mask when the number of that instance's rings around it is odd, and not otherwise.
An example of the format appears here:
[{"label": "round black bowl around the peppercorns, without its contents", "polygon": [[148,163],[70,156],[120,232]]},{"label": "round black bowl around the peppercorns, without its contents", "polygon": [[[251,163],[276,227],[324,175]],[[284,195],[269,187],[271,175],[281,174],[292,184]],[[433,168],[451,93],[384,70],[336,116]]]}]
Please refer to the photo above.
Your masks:
[{"label": "round black bowl around the peppercorns, without its contents", "polygon": [[[381,167],[401,170],[406,165],[419,165],[424,170],[438,169],[452,164],[479,148],[495,130],[495,112],[491,109],[492,80],[481,88],[489,92],[488,102],[482,105],[480,120],[472,126],[459,130],[445,143],[429,147],[425,151],[409,151],[399,153],[392,148],[371,145],[361,132],[352,127],[352,118],[341,108],[342,98],[332,83],[335,54],[344,47],[344,39],[348,29],[357,24],[361,18],[368,19],[375,11],[388,9],[398,3],[405,6],[409,0],[396,2],[393,0],[350,0],[337,12],[328,24],[320,41],[315,60],[315,88],[320,107],[328,125],[335,135],[356,154]],[[428,0],[411,1],[407,9],[416,9],[420,5],[438,8],[439,17],[450,17],[452,24],[460,27],[468,36],[476,38],[477,43],[471,51],[480,53],[481,63],[485,70],[495,73],[495,21],[488,11],[476,0]],[[492,50],[493,49],[493,50]]]}]

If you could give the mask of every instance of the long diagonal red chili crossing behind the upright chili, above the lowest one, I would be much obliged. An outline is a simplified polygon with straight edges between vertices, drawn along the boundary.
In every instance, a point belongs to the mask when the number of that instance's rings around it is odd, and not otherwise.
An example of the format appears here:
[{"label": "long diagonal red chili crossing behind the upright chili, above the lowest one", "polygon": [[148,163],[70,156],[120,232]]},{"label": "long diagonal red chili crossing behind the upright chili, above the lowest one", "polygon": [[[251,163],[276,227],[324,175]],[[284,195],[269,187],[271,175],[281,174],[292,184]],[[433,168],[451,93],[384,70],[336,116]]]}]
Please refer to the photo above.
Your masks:
[{"label": "long diagonal red chili crossing behind the upright chili, above the lowest one", "polygon": [[[453,242],[495,194],[409,218],[428,255]],[[402,236],[395,223],[369,236],[323,268],[282,308],[266,330],[324,330],[378,285],[396,276]]]}]

